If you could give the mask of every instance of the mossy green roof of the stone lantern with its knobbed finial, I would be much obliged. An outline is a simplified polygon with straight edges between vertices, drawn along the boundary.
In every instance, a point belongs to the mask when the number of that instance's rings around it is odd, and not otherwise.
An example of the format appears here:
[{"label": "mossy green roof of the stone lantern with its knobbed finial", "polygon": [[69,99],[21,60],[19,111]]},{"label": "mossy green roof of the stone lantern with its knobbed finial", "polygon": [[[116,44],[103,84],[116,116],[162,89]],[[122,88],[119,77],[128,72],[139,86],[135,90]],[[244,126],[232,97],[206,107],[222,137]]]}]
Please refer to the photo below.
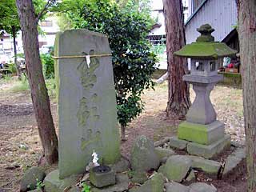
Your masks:
[{"label": "mossy green roof of the stone lantern with its knobbed finial", "polygon": [[217,59],[237,53],[224,42],[214,42],[214,37],[211,35],[214,29],[209,24],[202,25],[197,30],[201,35],[196,42],[182,47],[181,50],[174,52],[174,55],[183,58]]}]

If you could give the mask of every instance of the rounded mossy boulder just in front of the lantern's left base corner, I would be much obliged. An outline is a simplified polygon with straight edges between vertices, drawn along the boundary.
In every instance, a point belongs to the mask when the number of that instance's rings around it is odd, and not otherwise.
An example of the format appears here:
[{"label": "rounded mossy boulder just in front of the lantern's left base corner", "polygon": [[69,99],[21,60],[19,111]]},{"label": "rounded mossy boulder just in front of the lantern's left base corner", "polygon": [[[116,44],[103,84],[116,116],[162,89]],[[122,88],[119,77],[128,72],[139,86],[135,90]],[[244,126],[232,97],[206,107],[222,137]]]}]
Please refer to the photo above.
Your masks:
[{"label": "rounded mossy boulder just in front of the lantern's left base corner", "polygon": [[160,166],[158,172],[174,182],[182,182],[192,166],[192,161],[185,155],[173,155],[167,159],[166,164]]}]

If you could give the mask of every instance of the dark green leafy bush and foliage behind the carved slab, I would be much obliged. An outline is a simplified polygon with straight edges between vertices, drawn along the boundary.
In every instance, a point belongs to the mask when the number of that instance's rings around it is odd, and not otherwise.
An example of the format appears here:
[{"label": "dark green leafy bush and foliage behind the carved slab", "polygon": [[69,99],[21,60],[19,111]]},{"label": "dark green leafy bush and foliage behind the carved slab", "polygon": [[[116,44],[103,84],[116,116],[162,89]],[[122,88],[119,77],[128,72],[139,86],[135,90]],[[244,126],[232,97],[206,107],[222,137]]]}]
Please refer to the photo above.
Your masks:
[{"label": "dark green leafy bush and foliage behind the carved slab", "polygon": [[[146,1],[142,1],[146,3]],[[69,26],[106,34],[112,50],[118,121],[126,126],[142,112],[141,94],[154,86],[156,56],[146,40],[152,20],[149,6],[137,1],[63,0],[58,5]]]}]

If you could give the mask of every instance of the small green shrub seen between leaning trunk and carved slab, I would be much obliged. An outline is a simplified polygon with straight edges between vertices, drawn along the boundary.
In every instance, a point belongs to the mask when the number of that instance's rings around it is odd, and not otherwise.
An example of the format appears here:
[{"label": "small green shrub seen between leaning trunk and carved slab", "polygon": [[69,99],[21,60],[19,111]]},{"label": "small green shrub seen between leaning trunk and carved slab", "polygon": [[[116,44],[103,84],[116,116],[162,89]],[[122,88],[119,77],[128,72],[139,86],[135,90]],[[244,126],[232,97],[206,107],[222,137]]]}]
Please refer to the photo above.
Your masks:
[{"label": "small green shrub seen between leaning trunk and carved slab", "polygon": [[54,78],[54,59],[51,54],[41,54],[41,61],[45,78]]}]

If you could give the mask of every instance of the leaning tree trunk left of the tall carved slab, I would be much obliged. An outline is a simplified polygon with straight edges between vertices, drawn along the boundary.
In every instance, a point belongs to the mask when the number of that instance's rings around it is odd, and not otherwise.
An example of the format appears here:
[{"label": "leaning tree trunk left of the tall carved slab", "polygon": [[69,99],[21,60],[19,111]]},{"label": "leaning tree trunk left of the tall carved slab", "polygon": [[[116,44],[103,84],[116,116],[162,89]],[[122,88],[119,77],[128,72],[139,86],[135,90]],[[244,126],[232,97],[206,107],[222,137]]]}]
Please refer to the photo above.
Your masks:
[{"label": "leaning tree trunk left of the tall carved slab", "polygon": [[35,18],[32,0],[16,0],[16,4],[22,28],[26,70],[34,113],[38,122],[38,132],[46,161],[51,164],[58,161],[58,138],[50,112],[50,100],[46,83],[42,75],[42,62],[38,48],[38,23]]}]

